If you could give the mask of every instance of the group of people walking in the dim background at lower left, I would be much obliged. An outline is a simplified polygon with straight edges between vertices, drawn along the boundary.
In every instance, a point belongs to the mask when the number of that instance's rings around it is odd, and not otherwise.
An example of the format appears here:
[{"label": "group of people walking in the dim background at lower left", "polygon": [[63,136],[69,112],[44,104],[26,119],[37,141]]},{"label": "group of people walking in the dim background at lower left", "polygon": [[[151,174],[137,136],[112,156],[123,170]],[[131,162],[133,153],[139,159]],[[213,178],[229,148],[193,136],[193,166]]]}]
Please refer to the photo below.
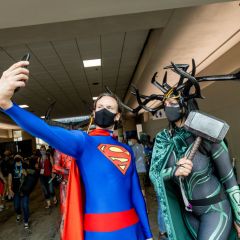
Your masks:
[{"label": "group of people walking in the dim background at lower left", "polygon": [[[5,150],[0,157],[0,211],[5,210],[6,203],[12,203],[16,222],[23,220],[24,228],[29,228],[29,197],[38,181],[46,200],[45,208],[58,204],[54,188],[57,186],[54,172],[54,152],[52,148],[33,151],[31,156],[13,154]],[[7,209],[6,209],[7,210]]]}]

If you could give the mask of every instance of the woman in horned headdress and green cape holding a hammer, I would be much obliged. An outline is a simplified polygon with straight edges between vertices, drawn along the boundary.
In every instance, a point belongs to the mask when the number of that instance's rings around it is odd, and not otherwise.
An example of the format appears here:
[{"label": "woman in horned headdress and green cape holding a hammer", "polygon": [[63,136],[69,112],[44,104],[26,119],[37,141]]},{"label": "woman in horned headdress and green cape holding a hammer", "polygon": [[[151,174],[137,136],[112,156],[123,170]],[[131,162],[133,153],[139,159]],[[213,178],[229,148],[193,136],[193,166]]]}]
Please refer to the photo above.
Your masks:
[{"label": "woman in horned headdress and green cape holding a hammer", "polygon": [[[189,157],[197,136],[184,124],[190,112],[198,110],[196,98],[202,98],[199,81],[233,80],[237,76],[195,78],[194,61],[192,75],[186,72],[186,64],[172,64],[167,68],[173,68],[181,76],[179,82],[170,86],[165,74],[160,84],[155,80],[155,74],[152,83],[163,94],[144,98],[160,101],[157,109],[164,109],[169,122],[169,127],[156,136],[150,168],[168,239],[236,239],[232,226],[240,237],[240,189],[228,149],[223,141],[213,143],[203,139],[193,158]],[[136,91],[138,99],[139,95]],[[147,103],[139,101],[148,111],[157,111],[147,107]],[[207,129],[208,123],[205,124]]]}]

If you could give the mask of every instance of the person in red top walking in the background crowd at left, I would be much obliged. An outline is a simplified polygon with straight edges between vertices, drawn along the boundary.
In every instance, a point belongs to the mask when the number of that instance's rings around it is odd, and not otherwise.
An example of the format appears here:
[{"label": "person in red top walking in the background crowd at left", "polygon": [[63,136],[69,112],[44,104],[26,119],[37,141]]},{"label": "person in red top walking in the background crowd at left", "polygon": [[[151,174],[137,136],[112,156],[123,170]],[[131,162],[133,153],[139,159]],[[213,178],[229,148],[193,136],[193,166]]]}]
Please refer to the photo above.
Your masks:
[{"label": "person in red top walking in the background crowd at left", "polygon": [[42,186],[43,194],[46,199],[46,209],[51,207],[51,199],[53,200],[53,204],[57,204],[57,198],[55,195],[52,178],[52,166],[53,166],[53,158],[51,154],[49,154],[44,145],[40,148],[41,157],[38,159],[39,173],[40,173],[40,183]]}]

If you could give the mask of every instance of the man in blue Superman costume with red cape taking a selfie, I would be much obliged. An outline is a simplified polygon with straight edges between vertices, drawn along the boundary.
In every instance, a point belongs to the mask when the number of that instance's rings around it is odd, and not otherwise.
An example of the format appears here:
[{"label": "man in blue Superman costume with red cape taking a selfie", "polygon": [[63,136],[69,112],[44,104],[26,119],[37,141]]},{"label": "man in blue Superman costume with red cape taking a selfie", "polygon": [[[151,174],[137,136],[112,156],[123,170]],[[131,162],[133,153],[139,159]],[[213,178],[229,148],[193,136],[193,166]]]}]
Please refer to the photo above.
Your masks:
[{"label": "man in blue Superman costume with red cape taking a selfie", "polygon": [[[112,136],[114,123],[121,115],[118,98],[111,94],[98,97],[93,111],[96,129],[89,135],[49,126],[11,101],[14,90],[26,85],[29,71],[25,67],[28,64],[28,61],[15,63],[3,73],[0,107],[30,134],[76,159],[73,163],[77,167],[72,164],[70,170],[63,239],[152,239],[132,150]],[[79,215],[81,205],[76,202],[81,195],[76,169],[80,170],[84,187],[82,219]],[[74,199],[73,195],[78,198]],[[81,224],[83,234],[79,233]]]}]

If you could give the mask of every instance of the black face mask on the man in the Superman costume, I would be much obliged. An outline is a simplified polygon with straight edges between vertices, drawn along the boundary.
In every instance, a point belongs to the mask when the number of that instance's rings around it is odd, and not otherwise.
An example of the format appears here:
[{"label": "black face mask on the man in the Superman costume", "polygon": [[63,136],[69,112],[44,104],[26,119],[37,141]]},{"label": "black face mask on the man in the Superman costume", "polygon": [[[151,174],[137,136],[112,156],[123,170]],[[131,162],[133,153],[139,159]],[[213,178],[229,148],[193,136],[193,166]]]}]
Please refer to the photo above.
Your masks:
[{"label": "black face mask on the man in the Superman costume", "polygon": [[112,113],[108,111],[106,108],[103,108],[95,112],[94,122],[99,127],[108,128],[114,125],[115,116],[116,116],[116,113]]}]

